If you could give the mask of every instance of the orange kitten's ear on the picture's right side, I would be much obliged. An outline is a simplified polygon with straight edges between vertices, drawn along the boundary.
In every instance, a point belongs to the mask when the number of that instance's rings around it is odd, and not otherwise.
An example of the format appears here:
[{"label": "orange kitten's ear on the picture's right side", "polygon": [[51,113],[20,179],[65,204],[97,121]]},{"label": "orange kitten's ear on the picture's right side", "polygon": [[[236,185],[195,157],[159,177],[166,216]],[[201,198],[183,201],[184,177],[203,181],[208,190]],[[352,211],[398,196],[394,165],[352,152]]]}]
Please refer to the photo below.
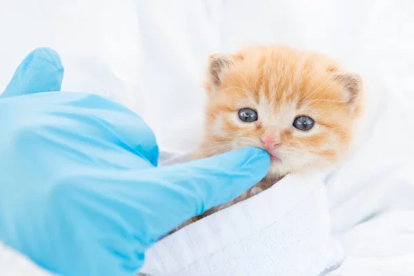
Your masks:
[{"label": "orange kitten's ear on the picture's right side", "polygon": [[342,85],[346,92],[348,105],[355,110],[362,97],[362,77],[351,72],[335,72],[333,77]]}]

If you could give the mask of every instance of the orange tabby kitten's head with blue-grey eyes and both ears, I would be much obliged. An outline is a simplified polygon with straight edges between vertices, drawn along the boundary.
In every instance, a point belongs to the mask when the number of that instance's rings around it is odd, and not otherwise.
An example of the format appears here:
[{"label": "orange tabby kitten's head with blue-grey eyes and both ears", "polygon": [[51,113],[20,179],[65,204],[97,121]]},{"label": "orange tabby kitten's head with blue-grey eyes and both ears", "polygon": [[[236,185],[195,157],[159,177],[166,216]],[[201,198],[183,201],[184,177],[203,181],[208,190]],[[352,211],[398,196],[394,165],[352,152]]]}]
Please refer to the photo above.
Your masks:
[{"label": "orange tabby kitten's head with blue-grey eyes and both ears", "polygon": [[199,156],[264,148],[270,178],[330,166],[350,144],[361,89],[331,59],[288,47],[213,55]]}]

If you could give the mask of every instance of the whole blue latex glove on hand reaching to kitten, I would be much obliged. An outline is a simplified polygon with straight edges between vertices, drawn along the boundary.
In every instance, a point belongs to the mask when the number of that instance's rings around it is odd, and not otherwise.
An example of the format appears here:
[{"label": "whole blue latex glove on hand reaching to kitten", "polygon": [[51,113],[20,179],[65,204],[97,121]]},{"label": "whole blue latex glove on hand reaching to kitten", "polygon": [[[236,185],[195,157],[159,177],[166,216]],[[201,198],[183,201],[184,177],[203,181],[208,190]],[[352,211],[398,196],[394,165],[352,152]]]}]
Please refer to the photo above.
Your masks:
[{"label": "whole blue latex glove on hand reaching to kitten", "polygon": [[245,148],[157,168],[144,121],[113,101],[60,90],[57,53],[37,49],[0,97],[0,239],[61,275],[135,275],[159,237],[266,174]]}]

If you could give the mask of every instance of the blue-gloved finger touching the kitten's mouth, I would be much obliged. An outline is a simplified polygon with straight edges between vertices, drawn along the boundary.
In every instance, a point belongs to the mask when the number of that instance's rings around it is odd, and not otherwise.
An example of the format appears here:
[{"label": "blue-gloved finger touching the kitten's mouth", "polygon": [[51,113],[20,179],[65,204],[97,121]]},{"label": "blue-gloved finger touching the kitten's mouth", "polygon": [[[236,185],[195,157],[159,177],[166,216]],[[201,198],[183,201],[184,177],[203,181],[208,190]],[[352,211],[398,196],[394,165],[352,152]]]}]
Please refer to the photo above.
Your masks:
[{"label": "blue-gloved finger touching the kitten's mouth", "polygon": [[200,215],[242,195],[268,172],[270,157],[259,148],[242,148],[206,159],[160,168],[159,175],[192,195]]}]

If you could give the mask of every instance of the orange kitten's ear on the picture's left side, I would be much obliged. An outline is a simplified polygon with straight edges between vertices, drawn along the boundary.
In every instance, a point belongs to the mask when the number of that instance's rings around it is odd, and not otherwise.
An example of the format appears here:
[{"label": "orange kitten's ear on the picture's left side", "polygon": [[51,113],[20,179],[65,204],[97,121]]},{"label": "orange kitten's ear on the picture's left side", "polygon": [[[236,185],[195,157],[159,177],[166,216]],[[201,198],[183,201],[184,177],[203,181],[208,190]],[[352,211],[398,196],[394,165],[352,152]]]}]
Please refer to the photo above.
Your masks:
[{"label": "orange kitten's ear on the picture's left side", "polygon": [[242,55],[210,55],[208,57],[208,83],[206,83],[208,90],[219,86],[223,79],[223,71],[240,59],[243,59]]}]

